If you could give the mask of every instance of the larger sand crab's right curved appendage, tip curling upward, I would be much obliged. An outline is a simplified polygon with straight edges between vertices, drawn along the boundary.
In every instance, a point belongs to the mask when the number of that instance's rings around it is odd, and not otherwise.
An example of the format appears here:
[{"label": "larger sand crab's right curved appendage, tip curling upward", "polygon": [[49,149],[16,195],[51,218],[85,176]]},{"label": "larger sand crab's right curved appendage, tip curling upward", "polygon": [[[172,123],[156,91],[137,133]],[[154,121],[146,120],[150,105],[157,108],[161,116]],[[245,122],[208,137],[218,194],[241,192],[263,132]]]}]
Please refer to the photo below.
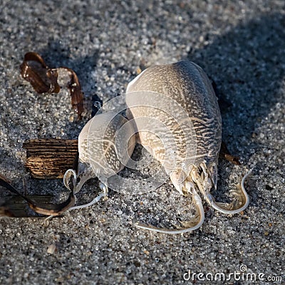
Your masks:
[{"label": "larger sand crab's right curved appendage, tip curling upward", "polygon": [[244,211],[244,209],[249,205],[249,196],[244,189],[244,181],[252,173],[252,170],[253,168],[249,170],[244,177],[242,177],[241,184],[237,187],[236,191],[232,192],[232,195],[234,195],[234,201],[232,201],[232,203],[227,204],[215,202],[214,197],[210,193],[206,194],[206,201],[211,207],[217,209],[217,211],[222,212],[223,214],[237,214]]}]

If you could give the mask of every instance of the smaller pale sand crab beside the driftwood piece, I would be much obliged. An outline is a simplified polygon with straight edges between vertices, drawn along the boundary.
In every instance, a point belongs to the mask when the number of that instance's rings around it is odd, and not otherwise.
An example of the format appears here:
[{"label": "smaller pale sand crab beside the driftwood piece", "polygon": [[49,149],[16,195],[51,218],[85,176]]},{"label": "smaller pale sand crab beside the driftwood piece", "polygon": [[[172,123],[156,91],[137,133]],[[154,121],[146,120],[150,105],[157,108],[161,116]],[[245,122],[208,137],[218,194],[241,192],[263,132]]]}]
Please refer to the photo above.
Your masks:
[{"label": "smaller pale sand crab beside the driftwood piece", "polygon": [[[122,128],[126,123],[127,128]],[[110,112],[95,115],[78,137],[78,173],[75,170],[66,171],[63,178],[66,187],[73,187],[73,192],[77,193],[86,180],[98,177],[100,188],[107,195],[108,178],[122,170],[133,153],[133,133],[132,125],[123,115]],[[80,181],[77,183],[78,178]]]}]

